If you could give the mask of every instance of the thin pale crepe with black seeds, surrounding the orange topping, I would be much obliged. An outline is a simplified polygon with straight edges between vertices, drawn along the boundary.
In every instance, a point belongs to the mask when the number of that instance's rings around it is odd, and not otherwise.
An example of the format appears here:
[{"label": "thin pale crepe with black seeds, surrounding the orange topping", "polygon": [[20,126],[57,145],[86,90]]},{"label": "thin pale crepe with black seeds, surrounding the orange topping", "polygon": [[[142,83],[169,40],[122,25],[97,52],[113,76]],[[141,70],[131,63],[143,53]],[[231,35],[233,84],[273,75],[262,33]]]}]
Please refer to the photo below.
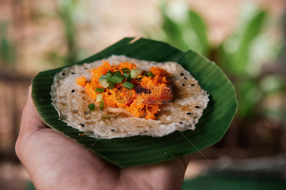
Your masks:
[{"label": "thin pale crepe with black seeds, surrounding the orange topping", "polygon": [[122,107],[104,106],[104,110],[99,110],[98,104],[96,104],[95,111],[90,111],[87,105],[93,103],[94,100],[85,94],[84,87],[77,85],[75,80],[82,75],[89,80],[91,72],[87,70],[100,66],[102,60],[99,60],[89,64],[66,67],[55,74],[54,83],[51,86],[51,99],[52,105],[59,113],[60,120],[90,137],[99,139],[124,138],[134,135],[162,137],[175,130],[195,129],[195,124],[207,107],[209,95],[180,64],[157,63],[126,56],[111,56],[105,61],[110,61],[115,65],[120,62],[130,62],[136,64],[136,67],[141,70],[149,70],[151,66],[165,69],[172,75],[169,79],[173,88],[173,100],[160,105],[156,119],[134,117]]}]

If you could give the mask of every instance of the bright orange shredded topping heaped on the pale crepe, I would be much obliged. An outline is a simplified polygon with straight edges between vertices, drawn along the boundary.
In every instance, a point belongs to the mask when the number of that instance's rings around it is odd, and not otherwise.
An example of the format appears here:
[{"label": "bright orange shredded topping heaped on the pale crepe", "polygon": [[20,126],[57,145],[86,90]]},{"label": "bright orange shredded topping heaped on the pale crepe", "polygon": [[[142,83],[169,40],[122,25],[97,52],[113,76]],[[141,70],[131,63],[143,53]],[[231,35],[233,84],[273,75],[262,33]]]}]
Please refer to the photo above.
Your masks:
[{"label": "bright orange shredded topping heaped on the pale crepe", "polygon": [[[84,87],[85,93],[92,100],[96,100],[96,96],[99,94],[99,92],[95,92],[95,88],[102,88],[98,82],[101,75],[105,75],[108,71],[121,71],[123,68],[128,68],[130,71],[137,69],[135,64],[129,62],[120,63],[119,65],[110,65],[107,61],[102,61],[102,63],[101,66],[88,70],[92,73],[91,82],[87,82],[83,75],[76,78],[76,84]],[[174,95],[168,80],[168,76],[171,75],[159,67],[151,67],[150,71],[154,76],[139,75],[140,80],[133,78],[130,82],[135,87],[131,90],[121,87],[126,79],[123,80],[122,84],[115,84],[112,90],[105,88],[102,93],[104,104],[111,107],[125,108],[135,117],[155,119],[160,111],[159,105],[170,102]]]}]

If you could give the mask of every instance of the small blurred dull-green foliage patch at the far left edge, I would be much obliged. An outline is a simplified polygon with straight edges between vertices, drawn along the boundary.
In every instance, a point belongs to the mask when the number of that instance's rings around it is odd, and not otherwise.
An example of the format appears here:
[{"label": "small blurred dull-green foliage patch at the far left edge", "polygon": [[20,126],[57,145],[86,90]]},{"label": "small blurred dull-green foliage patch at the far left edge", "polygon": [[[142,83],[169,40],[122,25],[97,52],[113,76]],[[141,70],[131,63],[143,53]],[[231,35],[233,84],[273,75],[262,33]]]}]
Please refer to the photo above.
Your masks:
[{"label": "small blurred dull-green foliage patch at the far left edge", "polygon": [[0,61],[3,68],[12,67],[16,62],[16,47],[7,33],[7,23],[0,23]]}]

